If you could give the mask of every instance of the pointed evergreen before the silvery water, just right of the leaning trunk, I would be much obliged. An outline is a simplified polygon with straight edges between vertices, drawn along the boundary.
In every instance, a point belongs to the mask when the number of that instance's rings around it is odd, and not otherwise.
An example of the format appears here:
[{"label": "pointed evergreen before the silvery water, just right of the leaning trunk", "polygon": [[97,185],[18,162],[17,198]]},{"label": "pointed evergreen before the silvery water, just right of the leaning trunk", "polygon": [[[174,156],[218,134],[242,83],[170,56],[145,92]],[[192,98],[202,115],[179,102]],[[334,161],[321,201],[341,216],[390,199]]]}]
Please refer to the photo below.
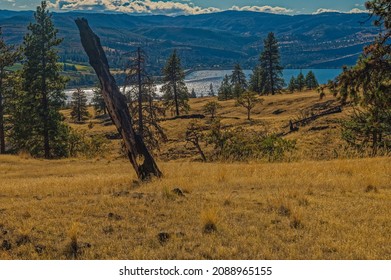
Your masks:
[{"label": "pointed evergreen before the silvery water, just right of the leaning trunk", "polygon": [[163,86],[162,92],[164,105],[175,111],[177,116],[180,112],[188,112],[190,107],[188,104],[189,92],[184,82],[185,73],[181,67],[181,61],[176,50],[168,58],[166,65],[163,68]]}]

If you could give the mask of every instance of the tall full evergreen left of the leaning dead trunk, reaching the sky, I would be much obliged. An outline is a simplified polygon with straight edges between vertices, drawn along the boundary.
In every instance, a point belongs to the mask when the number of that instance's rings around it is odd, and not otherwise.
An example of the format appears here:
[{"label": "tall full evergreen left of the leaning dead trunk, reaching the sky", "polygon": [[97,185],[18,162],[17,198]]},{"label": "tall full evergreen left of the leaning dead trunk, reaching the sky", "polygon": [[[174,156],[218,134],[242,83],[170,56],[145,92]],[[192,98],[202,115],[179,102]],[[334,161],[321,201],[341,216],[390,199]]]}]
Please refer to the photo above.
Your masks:
[{"label": "tall full evergreen left of the leaning dead trunk, reaching the sky", "polygon": [[51,14],[42,1],[34,23],[24,37],[22,90],[17,93],[13,112],[12,141],[17,150],[45,158],[67,156],[68,128],[61,122],[66,79],[60,76],[57,38]]}]

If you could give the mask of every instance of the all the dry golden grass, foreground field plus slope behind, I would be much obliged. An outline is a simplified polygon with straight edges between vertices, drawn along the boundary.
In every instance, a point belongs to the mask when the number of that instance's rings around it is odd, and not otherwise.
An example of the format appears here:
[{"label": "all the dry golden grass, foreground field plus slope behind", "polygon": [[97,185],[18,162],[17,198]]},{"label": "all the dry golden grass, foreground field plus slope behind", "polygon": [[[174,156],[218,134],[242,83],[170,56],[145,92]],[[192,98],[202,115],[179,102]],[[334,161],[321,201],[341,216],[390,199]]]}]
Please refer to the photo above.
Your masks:
[{"label": "all the dry golden grass, foreground field plus slope behind", "polygon": [[[252,122],[222,102],[222,121],[283,130],[300,109],[333,100],[264,99]],[[298,150],[281,163],[181,157],[189,120],[165,121],[163,150],[177,160],[162,157],[164,177],[141,184],[117,145],[96,159],[0,156],[0,259],[391,259],[391,158],[341,156],[345,114],[289,134]],[[115,131],[93,122],[91,133]]]}]

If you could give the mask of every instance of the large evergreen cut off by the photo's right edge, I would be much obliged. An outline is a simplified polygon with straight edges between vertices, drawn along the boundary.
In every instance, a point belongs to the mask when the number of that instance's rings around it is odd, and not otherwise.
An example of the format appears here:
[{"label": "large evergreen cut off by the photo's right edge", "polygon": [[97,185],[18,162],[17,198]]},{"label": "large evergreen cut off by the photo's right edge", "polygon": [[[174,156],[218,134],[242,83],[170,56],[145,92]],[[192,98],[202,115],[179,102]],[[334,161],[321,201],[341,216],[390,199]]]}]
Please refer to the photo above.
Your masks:
[{"label": "large evergreen cut off by the photo's right edge", "polygon": [[[366,3],[374,24],[381,27],[375,42],[364,48],[357,64],[337,78],[342,102],[350,99],[354,114],[343,123],[343,138],[357,149],[391,151],[391,5],[390,0]],[[384,30],[383,30],[384,29]]]}]

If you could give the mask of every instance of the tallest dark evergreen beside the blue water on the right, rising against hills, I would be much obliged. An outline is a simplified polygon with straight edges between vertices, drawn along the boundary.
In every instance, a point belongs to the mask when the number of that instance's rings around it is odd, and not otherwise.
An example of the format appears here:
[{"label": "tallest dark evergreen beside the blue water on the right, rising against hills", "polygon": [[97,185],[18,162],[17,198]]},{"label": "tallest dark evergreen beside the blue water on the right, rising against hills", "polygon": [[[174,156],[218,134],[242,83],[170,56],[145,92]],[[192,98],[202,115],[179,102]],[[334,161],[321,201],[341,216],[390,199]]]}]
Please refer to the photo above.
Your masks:
[{"label": "tallest dark evergreen beside the blue water on the right, rising against hills", "polygon": [[282,78],[283,67],[280,65],[278,42],[273,32],[270,32],[265,39],[259,60],[260,67],[265,73],[263,93],[274,95],[284,87],[284,79]]}]

